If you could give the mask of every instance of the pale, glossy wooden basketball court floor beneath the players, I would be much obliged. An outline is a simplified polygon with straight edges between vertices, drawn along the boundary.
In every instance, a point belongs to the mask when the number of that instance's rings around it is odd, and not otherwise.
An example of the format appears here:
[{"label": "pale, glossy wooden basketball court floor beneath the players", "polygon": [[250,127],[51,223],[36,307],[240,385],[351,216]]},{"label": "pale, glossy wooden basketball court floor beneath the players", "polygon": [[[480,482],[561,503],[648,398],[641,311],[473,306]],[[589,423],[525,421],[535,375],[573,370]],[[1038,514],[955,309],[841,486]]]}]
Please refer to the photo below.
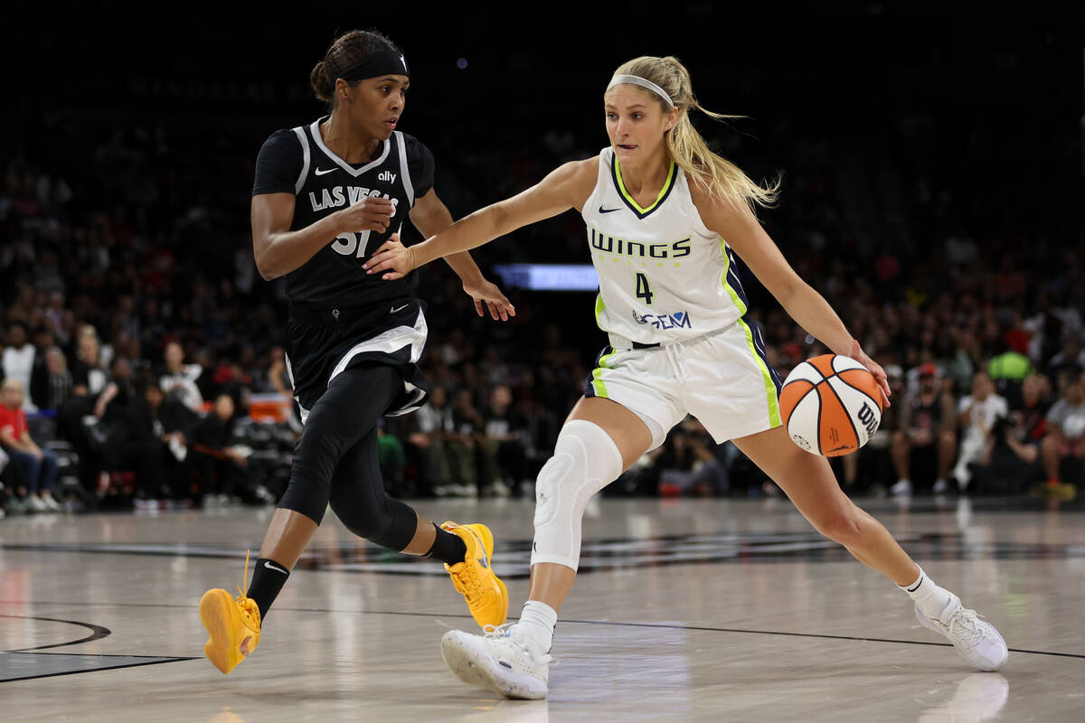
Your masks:
[{"label": "pale, glossy wooden basketball court floor beneath the players", "polygon": [[[910,601],[786,500],[596,499],[545,701],[464,687],[439,642],[474,622],[439,564],[326,518],[230,675],[196,603],[242,584],[271,509],[0,520],[4,721],[1081,721],[1085,517],[1033,500],[863,504],[1011,649],[971,669]],[[485,521],[510,612],[531,501],[424,501]]]}]

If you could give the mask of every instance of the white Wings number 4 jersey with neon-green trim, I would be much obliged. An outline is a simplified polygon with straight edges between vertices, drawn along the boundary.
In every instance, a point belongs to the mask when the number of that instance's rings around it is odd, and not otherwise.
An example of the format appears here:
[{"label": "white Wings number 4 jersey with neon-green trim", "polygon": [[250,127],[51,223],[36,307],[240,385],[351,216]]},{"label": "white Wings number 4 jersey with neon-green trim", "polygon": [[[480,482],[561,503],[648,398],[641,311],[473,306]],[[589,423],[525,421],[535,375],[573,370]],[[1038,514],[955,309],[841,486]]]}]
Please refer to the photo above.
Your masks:
[{"label": "white Wings number 4 jersey with neon-green trim", "polygon": [[583,216],[599,273],[599,328],[666,344],[717,332],[745,313],[731,249],[704,225],[676,164],[655,203],[641,208],[625,191],[613,150],[603,149]]}]

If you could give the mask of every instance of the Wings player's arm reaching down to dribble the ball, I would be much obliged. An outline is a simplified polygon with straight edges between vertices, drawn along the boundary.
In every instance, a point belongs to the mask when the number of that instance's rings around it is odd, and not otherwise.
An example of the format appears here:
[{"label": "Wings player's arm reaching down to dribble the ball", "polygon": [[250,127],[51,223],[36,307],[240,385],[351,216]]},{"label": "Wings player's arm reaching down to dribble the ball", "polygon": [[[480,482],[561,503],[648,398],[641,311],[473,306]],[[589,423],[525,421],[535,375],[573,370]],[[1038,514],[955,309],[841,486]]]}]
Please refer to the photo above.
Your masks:
[{"label": "Wings player's arm reaching down to dribble the ball", "polygon": [[825,297],[795,273],[753,211],[745,204],[712,198],[701,183],[690,183],[690,192],[705,225],[735,249],[783,310],[834,352],[866,366],[882,389],[882,401],[889,405],[891,391],[885,371],[852,338]]}]

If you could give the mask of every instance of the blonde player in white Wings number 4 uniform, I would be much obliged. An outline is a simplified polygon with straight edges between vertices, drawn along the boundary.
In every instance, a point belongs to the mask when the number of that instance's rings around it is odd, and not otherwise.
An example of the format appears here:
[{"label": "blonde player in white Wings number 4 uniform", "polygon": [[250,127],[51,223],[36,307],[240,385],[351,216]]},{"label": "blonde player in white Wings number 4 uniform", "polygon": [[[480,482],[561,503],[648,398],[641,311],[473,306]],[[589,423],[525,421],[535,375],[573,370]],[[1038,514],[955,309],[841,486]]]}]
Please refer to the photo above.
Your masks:
[{"label": "blonde player in white Wings number 4 uniform", "polygon": [[924,574],[841,491],[828,460],[799,449],[780,424],[780,382],[765,361],[761,330],[746,318],[736,255],[803,328],[863,363],[886,404],[889,385],[757,222],[754,208],[770,203],[776,189],[758,186],[707,149],[689,113],[720,116],[698,104],[676,59],[625,63],[603,102],[611,145],[598,157],[565,164],[422,244],[405,248],[391,238],[366,264],[396,280],[576,208],[599,272],[596,319],[610,346],[538,475],[528,601],[516,623],[483,636],[447,633],[442,651],[449,668],[507,697],[546,696],[553,627],[576,576],[585,505],[687,413],[717,442],[732,440],[819,532],[895,582],[923,625],[976,668],[999,668],[1008,650],[994,627]]}]

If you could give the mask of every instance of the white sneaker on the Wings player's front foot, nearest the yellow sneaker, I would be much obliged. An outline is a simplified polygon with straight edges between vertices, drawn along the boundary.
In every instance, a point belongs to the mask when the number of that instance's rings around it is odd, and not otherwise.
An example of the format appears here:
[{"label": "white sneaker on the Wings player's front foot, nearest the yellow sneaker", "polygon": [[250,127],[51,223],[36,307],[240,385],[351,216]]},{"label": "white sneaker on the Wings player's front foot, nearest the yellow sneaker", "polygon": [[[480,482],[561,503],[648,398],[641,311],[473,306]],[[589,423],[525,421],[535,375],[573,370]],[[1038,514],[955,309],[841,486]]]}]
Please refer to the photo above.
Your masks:
[{"label": "white sneaker on the Wings player's front foot, nearest the yellow sneaker", "polygon": [[468,685],[489,688],[506,698],[545,698],[550,656],[532,654],[514,624],[487,625],[483,635],[450,630],[441,638],[441,657]]}]

